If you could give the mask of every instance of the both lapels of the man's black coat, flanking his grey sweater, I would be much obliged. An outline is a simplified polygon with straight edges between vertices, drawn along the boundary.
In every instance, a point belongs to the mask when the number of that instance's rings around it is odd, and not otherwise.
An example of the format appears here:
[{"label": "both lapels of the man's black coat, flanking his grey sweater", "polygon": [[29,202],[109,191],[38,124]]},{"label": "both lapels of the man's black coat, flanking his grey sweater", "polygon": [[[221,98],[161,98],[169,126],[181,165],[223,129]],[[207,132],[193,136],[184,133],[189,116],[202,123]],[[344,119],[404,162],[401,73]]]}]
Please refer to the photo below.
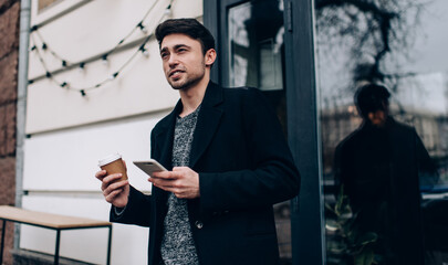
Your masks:
[{"label": "both lapels of the man's black coat, flanking his grey sweater", "polygon": [[[198,121],[190,151],[190,168],[194,168],[200,156],[210,144],[221,118],[222,109],[219,105],[223,102],[222,87],[210,82],[207,86],[206,94],[199,110]],[[179,99],[173,112],[158,124],[155,134],[157,149],[160,150],[156,159],[170,169],[173,157],[173,140],[176,117],[183,110],[183,103]]]}]

